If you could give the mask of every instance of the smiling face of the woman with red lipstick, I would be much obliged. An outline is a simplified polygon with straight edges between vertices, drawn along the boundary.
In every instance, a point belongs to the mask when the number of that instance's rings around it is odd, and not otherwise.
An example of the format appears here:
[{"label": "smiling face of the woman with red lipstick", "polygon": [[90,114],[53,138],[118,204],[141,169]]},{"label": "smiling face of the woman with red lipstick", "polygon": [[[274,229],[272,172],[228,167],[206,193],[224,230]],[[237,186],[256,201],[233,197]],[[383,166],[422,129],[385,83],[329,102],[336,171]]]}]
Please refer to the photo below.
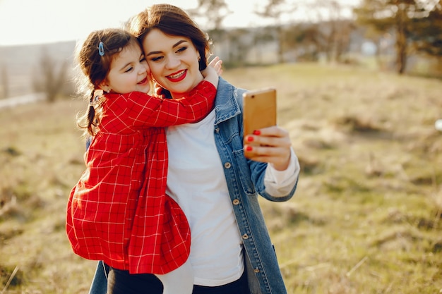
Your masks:
[{"label": "smiling face of the woman with red lipstick", "polygon": [[203,80],[198,64],[200,54],[191,39],[153,29],[143,40],[143,49],[153,78],[172,97],[182,97]]}]

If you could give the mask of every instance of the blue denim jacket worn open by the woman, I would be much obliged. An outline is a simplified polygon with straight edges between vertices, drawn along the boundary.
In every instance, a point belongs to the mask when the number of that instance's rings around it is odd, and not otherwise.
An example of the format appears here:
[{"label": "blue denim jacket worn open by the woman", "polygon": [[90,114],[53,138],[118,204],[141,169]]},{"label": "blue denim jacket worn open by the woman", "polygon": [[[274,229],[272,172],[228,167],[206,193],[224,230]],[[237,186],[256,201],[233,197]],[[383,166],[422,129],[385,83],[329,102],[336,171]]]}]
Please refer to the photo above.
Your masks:
[{"label": "blue denim jacket worn open by the woman", "polygon": [[[287,290],[258,204],[258,195],[274,202],[287,201],[294,195],[297,183],[285,197],[273,197],[264,185],[267,164],[244,157],[242,94],[245,91],[220,78],[215,100],[215,144],[224,166],[230,199],[244,243],[251,294],[285,294]],[[100,263],[90,294],[105,294],[106,283]]]}]

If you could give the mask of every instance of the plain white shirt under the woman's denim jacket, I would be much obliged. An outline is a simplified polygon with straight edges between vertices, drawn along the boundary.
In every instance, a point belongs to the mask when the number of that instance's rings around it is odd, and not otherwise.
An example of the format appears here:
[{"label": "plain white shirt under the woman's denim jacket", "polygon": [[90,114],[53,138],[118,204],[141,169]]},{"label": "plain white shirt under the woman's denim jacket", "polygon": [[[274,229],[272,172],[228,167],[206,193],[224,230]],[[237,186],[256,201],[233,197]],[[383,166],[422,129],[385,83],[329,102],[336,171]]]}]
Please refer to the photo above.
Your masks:
[{"label": "plain white shirt under the woman's denim jacket", "polygon": [[[225,285],[239,279],[244,271],[241,235],[215,146],[214,122],[215,111],[212,111],[198,123],[167,128],[166,192],[178,202],[189,221],[190,262],[194,283],[201,286]],[[295,157],[293,152],[292,157]],[[289,167],[295,168],[294,164]],[[287,183],[287,173],[268,170],[266,185],[277,188],[280,183]],[[296,180],[293,174],[289,177],[291,181]]]}]

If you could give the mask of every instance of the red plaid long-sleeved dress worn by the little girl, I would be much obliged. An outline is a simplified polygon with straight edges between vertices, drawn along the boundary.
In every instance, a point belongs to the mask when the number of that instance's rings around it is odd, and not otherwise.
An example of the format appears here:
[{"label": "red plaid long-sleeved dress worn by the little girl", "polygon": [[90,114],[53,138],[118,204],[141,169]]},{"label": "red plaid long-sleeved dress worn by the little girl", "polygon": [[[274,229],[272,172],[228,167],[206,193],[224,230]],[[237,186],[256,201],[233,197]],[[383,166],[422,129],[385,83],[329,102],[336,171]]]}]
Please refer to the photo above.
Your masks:
[{"label": "red plaid long-sleeved dress worn by the little girl", "polygon": [[66,233],[76,254],[131,274],[165,274],[186,262],[189,223],[165,194],[164,127],[201,120],[215,94],[207,81],[183,99],[105,94],[87,169],[68,200]]}]

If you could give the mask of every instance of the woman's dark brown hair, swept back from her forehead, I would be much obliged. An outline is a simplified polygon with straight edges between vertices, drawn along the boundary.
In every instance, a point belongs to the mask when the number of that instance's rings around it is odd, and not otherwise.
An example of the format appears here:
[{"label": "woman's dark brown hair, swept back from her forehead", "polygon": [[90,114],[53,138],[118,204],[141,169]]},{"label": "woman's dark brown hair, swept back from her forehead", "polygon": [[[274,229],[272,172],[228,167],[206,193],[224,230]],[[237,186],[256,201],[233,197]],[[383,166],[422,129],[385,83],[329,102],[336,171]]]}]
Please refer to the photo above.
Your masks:
[{"label": "woman's dark brown hair, swept back from her forehead", "polygon": [[177,6],[154,4],[133,16],[127,24],[127,29],[140,40],[141,44],[153,29],[158,29],[166,35],[188,37],[201,56],[200,71],[207,67],[208,54],[210,54],[208,35]]}]

